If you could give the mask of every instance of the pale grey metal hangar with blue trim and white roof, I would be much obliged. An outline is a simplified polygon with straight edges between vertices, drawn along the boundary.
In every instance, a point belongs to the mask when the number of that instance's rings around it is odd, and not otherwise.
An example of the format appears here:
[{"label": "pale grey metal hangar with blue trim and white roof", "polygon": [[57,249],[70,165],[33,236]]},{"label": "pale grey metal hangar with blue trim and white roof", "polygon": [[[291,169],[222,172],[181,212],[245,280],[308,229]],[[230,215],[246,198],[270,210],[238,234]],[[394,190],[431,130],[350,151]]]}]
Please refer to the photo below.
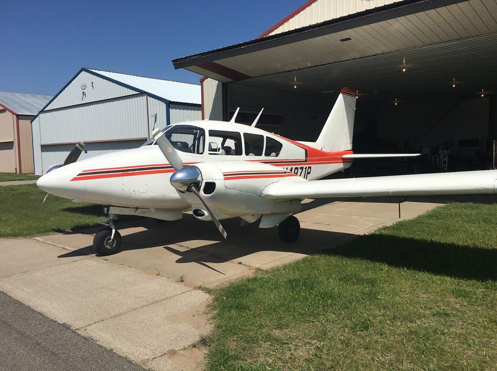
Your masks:
[{"label": "pale grey metal hangar with blue trim and white roof", "polygon": [[82,68],[33,118],[36,175],[61,164],[141,146],[155,128],[201,118],[200,86]]}]

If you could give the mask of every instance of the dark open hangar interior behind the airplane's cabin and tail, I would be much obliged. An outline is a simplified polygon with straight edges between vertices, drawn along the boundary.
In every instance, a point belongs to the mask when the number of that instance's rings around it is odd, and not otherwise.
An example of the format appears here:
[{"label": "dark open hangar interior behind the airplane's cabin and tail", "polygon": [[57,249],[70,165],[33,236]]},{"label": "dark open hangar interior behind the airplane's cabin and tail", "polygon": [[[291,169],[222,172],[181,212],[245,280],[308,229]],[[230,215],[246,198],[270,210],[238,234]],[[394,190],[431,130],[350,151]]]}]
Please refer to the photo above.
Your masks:
[{"label": "dark open hangar interior behind the airplane's cabin and tail", "polygon": [[422,153],[356,160],[354,176],[495,167],[497,34],[225,83],[225,117],[314,141],[342,87],[358,93],[356,153]]}]

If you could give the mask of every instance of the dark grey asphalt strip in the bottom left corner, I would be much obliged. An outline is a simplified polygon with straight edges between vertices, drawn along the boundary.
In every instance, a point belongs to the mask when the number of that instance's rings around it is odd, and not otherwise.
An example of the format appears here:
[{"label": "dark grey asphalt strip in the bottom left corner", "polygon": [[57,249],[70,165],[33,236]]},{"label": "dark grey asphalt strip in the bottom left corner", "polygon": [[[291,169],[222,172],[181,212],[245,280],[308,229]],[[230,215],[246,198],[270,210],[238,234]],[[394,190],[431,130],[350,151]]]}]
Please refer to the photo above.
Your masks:
[{"label": "dark grey asphalt strip in the bottom left corner", "polygon": [[0,370],[143,370],[0,291]]}]

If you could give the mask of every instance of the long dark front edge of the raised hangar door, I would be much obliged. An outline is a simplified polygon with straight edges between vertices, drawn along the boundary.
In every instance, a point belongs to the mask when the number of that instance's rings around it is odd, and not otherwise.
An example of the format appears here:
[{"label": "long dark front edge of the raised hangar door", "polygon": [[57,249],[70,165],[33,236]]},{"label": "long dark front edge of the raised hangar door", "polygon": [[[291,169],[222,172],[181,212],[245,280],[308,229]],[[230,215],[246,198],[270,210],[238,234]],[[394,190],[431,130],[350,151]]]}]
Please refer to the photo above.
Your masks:
[{"label": "long dark front edge of the raised hangar door", "polygon": [[174,69],[198,66],[203,63],[287,45],[464,1],[467,0],[403,0],[276,35],[265,36],[187,57],[176,58],[172,60],[172,64]]}]

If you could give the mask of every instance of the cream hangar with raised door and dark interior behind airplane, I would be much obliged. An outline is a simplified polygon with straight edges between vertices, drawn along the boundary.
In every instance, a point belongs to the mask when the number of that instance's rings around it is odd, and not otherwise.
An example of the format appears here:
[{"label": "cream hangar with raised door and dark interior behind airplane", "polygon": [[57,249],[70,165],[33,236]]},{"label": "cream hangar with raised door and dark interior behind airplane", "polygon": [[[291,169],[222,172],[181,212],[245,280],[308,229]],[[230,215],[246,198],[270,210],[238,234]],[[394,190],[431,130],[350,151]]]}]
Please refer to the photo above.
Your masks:
[{"label": "cream hangar with raised door and dark interior behind airplane", "polygon": [[[354,152],[423,156],[356,161],[354,176],[495,167],[497,2],[345,2],[308,1],[257,39],[173,64],[206,76],[204,118],[240,107],[250,123],[264,107],[258,126],[294,140],[314,141],[340,89],[356,91]],[[331,19],[312,23],[312,7]]]}]

